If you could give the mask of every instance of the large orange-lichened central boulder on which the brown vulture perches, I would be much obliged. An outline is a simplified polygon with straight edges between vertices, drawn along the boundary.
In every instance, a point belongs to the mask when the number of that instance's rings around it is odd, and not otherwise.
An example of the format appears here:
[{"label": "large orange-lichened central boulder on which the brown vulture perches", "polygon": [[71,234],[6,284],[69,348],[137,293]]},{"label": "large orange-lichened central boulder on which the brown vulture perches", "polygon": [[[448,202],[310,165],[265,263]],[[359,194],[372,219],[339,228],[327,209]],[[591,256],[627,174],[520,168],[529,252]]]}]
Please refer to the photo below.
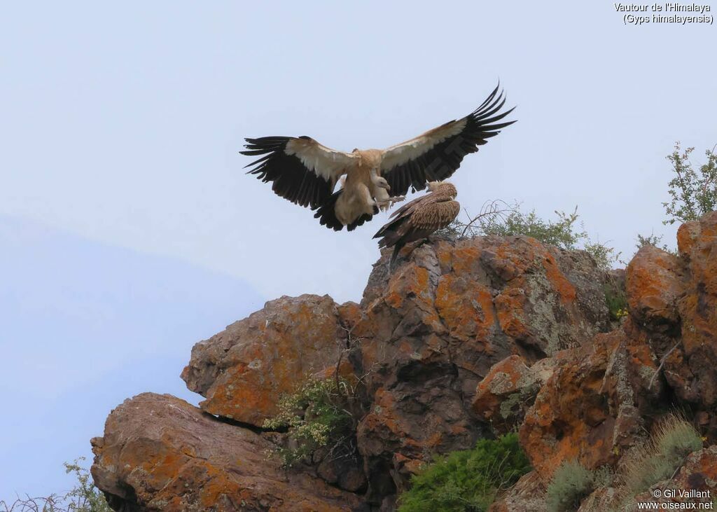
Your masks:
[{"label": "large orange-lichened central boulder on which the brown vulture perches", "polygon": [[584,252],[529,237],[437,239],[404,251],[390,274],[387,262],[347,320],[369,402],[358,441],[370,499],[485,435],[473,399],[495,363],[515,354],[533,364],[609,325],[602,272]]}]

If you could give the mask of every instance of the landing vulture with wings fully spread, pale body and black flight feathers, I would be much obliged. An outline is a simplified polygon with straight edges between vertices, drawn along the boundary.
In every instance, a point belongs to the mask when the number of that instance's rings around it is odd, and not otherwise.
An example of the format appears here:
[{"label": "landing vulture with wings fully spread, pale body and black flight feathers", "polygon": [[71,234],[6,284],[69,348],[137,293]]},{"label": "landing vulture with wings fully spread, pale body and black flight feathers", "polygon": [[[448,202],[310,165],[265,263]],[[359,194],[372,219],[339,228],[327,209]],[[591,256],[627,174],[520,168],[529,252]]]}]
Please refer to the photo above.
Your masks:
[{"label": "landing vulture with wings fully spread, pale body and black flight feathers", "polygon": [[[500,112],[503,93],[495,87],[472,113],[386,149],[354,149],[351,153],[322,146],[313,138],[247,138],[242,154],[259,158],[247,174],[272,181],[279,196],[316,210],[326,227],[348,231],[364,224],[409,189],[423,190],[428,181],[451,176],[463,157],[478,151],[488,138],[515,121],[500,122],[513,110]],[[341,176],[343,187],[334,191]]]}]

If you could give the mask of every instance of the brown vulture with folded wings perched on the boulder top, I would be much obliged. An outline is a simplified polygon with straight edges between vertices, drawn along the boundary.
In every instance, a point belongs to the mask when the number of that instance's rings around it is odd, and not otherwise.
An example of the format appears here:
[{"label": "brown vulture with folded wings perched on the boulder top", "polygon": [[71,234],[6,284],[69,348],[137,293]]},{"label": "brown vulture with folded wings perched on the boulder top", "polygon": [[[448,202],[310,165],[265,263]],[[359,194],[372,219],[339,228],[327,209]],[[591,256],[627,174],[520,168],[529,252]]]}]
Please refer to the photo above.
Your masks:
[{"label": "brown vulture with folded wings perched on the boulder top", "polygon": [[455,201],[458,192],[447,181],[431,181],[429,193],[404,204],[391,214],[391,221],[374,238],[380,238],[379,247],[394,247],[389,267],[393,266],[399,252],[409,242],[427,238],[437,229],[453,222],[460,212]]}]

